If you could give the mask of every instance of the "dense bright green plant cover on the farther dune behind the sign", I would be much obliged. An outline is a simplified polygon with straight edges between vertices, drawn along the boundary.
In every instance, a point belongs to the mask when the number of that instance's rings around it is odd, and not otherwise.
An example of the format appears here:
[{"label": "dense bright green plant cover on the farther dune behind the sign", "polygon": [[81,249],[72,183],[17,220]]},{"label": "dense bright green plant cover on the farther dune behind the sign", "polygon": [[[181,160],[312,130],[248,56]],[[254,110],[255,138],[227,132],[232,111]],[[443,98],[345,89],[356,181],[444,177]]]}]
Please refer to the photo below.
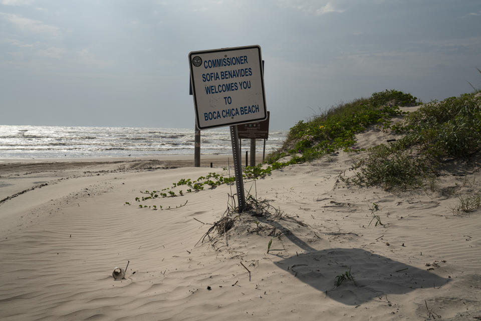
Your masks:
[{"label": "dense bright green plant cover on the farther dune behind the sign", "polygon": [[[405,115],[398,106],[415,105],[416,97],[397,90],[373,93],[370,98],[360,98],[349,103],[340,103],[329,110],[313,116],[308,121],[299,121],[290,130],[280,150],[267,157],[273,164],[291,155],[284,166],[309,162],[338,150],[360,151],[352,146],[355,134],[370,126],[386,130],[391,118]],[[278,165],[279,166],[279,165]]]}]

